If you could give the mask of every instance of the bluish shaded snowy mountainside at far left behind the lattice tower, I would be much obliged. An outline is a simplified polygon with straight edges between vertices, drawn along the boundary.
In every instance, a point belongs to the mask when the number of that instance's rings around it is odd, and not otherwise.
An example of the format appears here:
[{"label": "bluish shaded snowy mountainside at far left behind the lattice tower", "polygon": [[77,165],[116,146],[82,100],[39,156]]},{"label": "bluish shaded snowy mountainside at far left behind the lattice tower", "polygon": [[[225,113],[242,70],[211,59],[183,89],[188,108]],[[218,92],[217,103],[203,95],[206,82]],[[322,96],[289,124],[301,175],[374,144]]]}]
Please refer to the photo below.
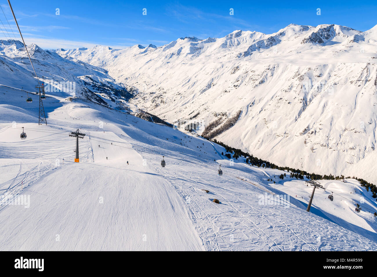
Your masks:
[{"label": "bluish shaded snowy mountainside at far left behind the lattice tower", "polygon": [[[48,92],[82,96],[104,105],[109,104],[108,99],[115,102],[115,99],[127,100],[133,96],[124,84],[115,82],[107,71],[100,67],[75,58],[62,58],[36,44],[27,47],[35,71]],[[20,41],[0,40],[0,72],[1,86],[35,92],[37,80],[25,47]]]}]

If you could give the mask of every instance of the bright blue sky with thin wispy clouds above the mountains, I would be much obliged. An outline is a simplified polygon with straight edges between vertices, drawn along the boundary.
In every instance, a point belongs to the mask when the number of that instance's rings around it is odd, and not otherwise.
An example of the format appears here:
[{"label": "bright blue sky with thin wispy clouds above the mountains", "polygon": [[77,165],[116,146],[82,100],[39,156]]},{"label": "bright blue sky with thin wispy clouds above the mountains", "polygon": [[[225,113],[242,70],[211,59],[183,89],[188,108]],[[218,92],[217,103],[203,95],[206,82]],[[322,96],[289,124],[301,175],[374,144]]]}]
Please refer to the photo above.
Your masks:
[{"label": "bright blue sky with thin wispy clouds above the mountains", "polygon": [[[45,1],[11,0],[26,44],[44,49],[160,46],[179,37],[224,37],[234,30],[277,32],[290,23],[340,24],[366,31],[377,24],[377,1]],[[19,39],[8,3],[0,0]],[[56,15],[56,9],[60,15]],[[147,15],[143,15],[146,8]],[[230,15],[233,8],[234,15]],[[317,15],[320,8],[320,15]],[[0,27],[13,34],[0,10]],[[0,38],[6,37],[0,31]],[[16,32],[17,31],[17,32]]]}]

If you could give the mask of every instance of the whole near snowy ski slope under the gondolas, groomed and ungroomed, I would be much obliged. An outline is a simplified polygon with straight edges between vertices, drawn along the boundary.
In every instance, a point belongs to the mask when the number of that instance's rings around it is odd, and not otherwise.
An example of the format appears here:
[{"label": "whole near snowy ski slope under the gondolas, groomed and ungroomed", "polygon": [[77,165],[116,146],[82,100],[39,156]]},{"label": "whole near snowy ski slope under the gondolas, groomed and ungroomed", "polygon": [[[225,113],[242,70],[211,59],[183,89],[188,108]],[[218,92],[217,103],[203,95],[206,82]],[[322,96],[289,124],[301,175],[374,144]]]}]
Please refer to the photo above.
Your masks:
[{"label": "whole near snowy ski slope under the gondolas, groomed and ungroomed", "polygon": [[[331,210],[336,198],[326,202],[331,218],[316,212],[324,198],[317,191],[313,213],[294,197],[261,203],[266,193],[306,196],[303,181],[279,183],[278,170],[233,163],[205,139],[80,98],[47,95],[48,125],[38,125],[37,101],[26,103],[21,93],[9,98],[0,88],[2,251],[377,249],[375,225],[366,226],[360,213],[349,218],[358,228],[352,229],[344,220],[349,214]],[[21,127],[28,135],[22,141]],[[69,136],[76,129],[86,134],[80,163],[73,162]],[[30,207],[4,201],[22,195]],[[368,205],[377,210],[375,201]]]}]

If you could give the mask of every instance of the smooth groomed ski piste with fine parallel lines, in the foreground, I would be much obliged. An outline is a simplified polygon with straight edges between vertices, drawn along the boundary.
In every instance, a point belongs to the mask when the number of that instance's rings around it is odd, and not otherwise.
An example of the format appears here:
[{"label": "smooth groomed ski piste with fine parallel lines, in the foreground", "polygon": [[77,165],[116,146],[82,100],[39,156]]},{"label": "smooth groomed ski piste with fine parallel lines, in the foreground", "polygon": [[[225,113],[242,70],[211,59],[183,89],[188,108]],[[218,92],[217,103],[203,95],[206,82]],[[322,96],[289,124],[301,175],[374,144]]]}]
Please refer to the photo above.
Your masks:
[{"label": "smooth groomed ski piste with fine parallel lines, in the foreground", "polygon": [[[95,163],[66,161],[22,191],[31,193],[30,208],[6,207],[9,213],[4,220],[20,224],[16,228],[3,225],[3,234],[14,235],[2,249],[202,249],[169,183],[142,168],[141,156],[135,150],[115,145],[113,149],[107,145],[98,149],[94,147],[97,141],[92,143]],[[106,161],[104,155],[111,158]],[[132,158],[128,169],[121,162],[124,156]]]}]

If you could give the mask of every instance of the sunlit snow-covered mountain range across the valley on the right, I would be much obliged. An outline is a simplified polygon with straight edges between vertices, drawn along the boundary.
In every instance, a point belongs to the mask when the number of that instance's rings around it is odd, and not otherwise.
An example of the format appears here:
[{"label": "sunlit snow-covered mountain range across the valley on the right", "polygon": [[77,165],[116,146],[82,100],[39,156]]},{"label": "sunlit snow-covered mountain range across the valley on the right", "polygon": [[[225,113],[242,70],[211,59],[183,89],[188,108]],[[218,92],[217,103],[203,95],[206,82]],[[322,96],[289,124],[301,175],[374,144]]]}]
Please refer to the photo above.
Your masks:
[{"label": "sunlit snow-covered mountain range across the valley on the right", "polygon": [[290,24],[274,34],[56,52],[135,86],[132,102],[169,122],[217,119],[215,130],[241,111],[218,141],[275,164],[377,182],[377,26]]}]

